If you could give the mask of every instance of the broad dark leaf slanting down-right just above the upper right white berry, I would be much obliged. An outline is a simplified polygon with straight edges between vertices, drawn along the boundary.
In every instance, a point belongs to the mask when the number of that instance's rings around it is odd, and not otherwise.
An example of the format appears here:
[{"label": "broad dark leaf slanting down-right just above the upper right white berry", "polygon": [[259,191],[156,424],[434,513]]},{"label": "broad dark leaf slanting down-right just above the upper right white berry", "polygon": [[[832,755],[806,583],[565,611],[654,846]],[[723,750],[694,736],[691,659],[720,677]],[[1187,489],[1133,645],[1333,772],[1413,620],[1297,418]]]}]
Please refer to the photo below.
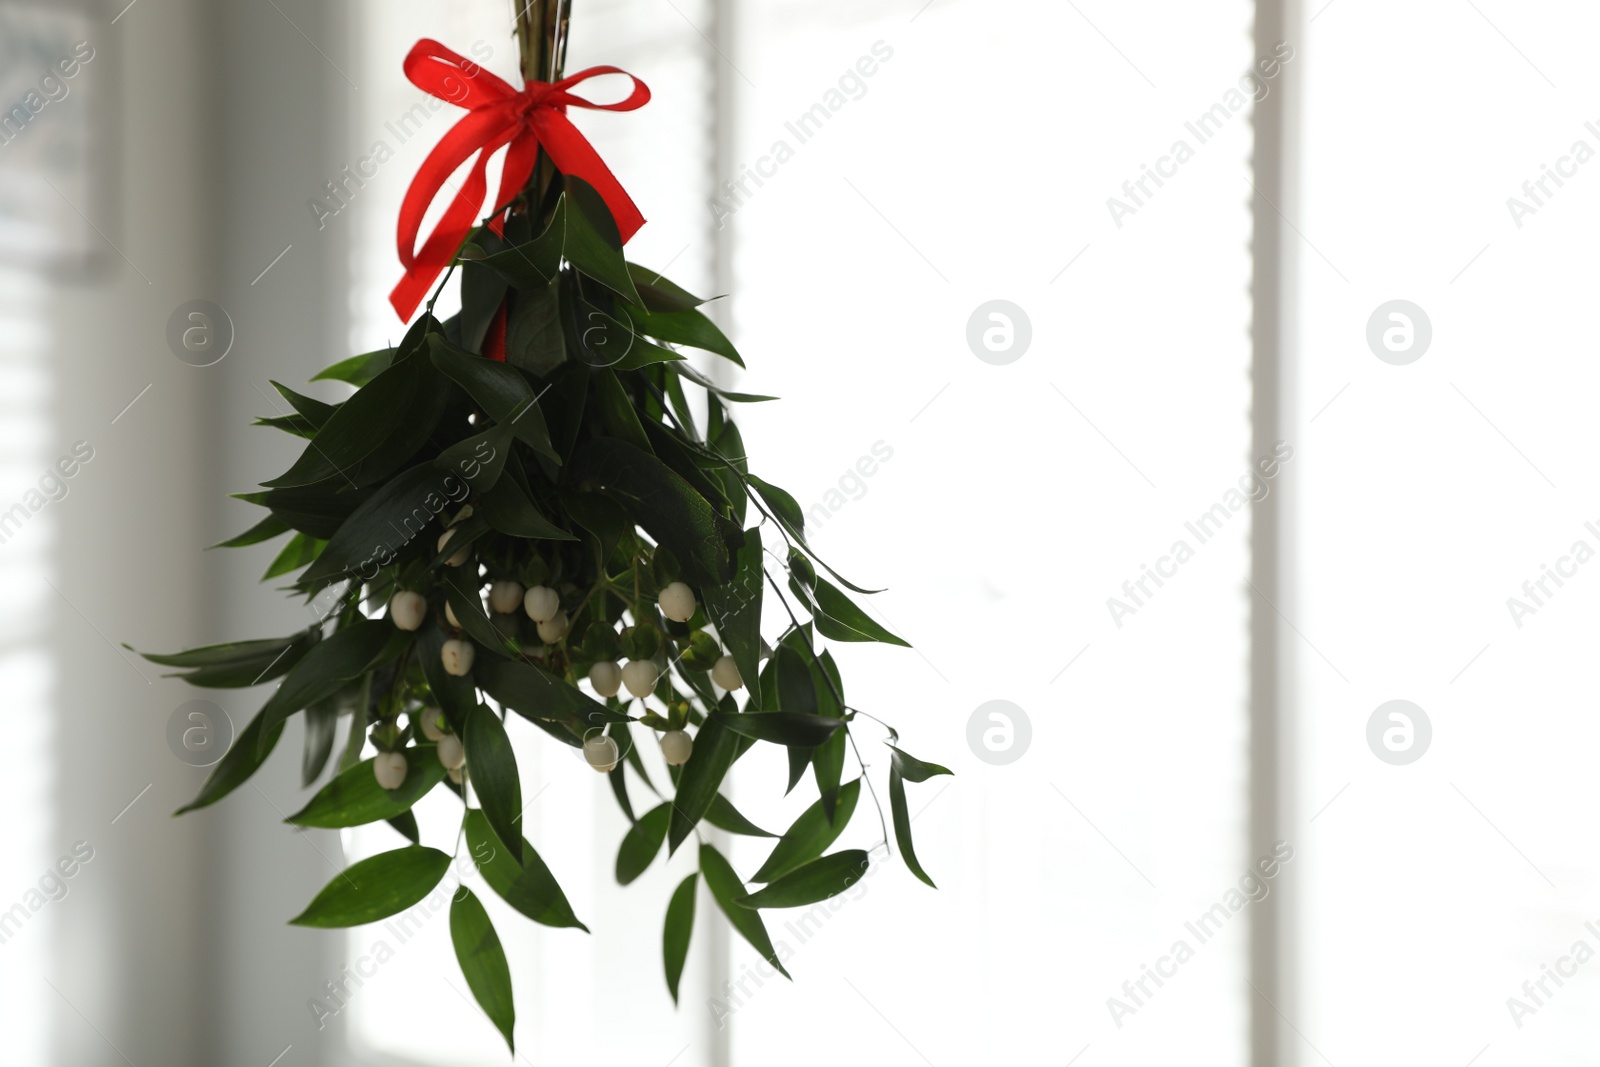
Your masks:
[{"label": "broad dark leaf slanting down-right just above the upper right white berry", "polygon": [[694,584],[725,582],[733,574],[728,541],[742,530],[717,515],[706,498],[650,453],[616,438],[595,438],[573,456],[568,472],[579,490],[598,490],[622,506],[683,563]]}]

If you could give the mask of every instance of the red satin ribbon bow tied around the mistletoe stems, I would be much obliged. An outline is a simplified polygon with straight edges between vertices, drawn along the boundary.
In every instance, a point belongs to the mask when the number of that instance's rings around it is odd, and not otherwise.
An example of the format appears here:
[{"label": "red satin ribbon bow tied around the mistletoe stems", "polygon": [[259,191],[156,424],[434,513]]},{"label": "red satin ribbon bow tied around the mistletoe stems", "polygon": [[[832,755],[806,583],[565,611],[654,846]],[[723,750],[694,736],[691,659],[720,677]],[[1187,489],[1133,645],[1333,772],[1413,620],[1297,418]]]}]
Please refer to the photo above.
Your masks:
[{"label": "red satin ribbon bow tied around the mistletoe stems", "polygon": [[[595,104],[571,93],[574,85],[602,74],[621,74],[634,83],[634,91],[616,104]],[[437,40],[424,38],[405,58],[405,75],[424,93],[466,107],[467,114],[427,154],[400,205],[400,262],[406,272],[389,294],[389,302],[402,320],[410,320],[416,314],[427,290],[472,232],[472,224],[483,210],[483,195],[488,192],[485,168],[490,157],[506,146],[510,147],[501,173],[498,206],[504,208],[528,184],[542,147],[557,170],[595,187],[611,210],[624,242],[645,224],[645,216],[638,213],[638,206],[629,198],[616,174],[566,118],[568,106],[635,110],[648,104],[650,88],[632,74],[618,67],[589,67],[560,82],[530,82],[517,91]],[[456,168],[474,154],[478,158],[467,174],[466,186],[445,210],[445,216],[429,234],[421,251],[416,251],[422,214]],[[491,222],[496,234],[501,226],[499,219]]]}]

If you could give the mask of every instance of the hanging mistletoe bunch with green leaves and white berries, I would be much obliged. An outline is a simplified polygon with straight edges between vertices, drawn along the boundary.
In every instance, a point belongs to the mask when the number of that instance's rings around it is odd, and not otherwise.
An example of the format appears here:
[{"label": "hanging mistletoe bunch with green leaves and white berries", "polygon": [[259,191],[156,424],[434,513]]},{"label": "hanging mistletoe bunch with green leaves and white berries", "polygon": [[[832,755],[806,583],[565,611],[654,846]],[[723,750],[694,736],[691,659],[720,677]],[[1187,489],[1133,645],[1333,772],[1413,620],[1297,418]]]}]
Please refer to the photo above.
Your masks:
[{"label": "hanging mistletoe bunch with green leaves and white berries", "polygon": [[[411,61],[406,70],[422,85]],[[498,91],[483,88],[493,75],[472,77],[474,91]],[[515,98],[550,88],[530,82]],[[347,400],[277,386],[294,413],[259,421],[306,448],[285,474],[240,494],[267,515],[224,545],[288,534],[264,579],[291,576],[296,595],[326,606],[320,619],[282,638],[147,659],[205,688],[280,680],[182,811],[246,782],[301,715],[306,787],[336,766],[288,822],[386,821],[397,832],[397,848],[334,877],[291,920],[301,926],[395,915],[434,893],[466,849],[514,910],[587,929],[523,838],[509,734],[531,725],[573,747],[606,774],[630,824],[616,857],[621,883],[662,845],[670,854],[696,838],[698,873],[666,909],[675,1000],[699,878],[734,929],[787,974],[762,912],[814,904],[864,873],[867,851],[827,853],[862,787],[874,800],[877,790],[856,749],[859,712],[818,638],[904,641],[853,600],[867,590],[811,552],[794,498],[749,470],[730,405],[768,397],[728,392],[685,358],[691,347],[744,366],[704,301],[627,262],[624,235],[637,224],[619,222],[621,190],[571,173],[581,168],[563,174],[544,133],[538,165],[502,208],[464,240],[446,235],[437,266],[459,272],[461,314],[437,320],[435,290],[398,346],[317,376],[355,386]],[[770,643],[768,597],[789,621]],[[368,744],[376,753],[363,758]],[[757,744],[787,750],[774,793],[806,777],[818,792],[782,835],[754,825],[722,792]],[[662,757],[654,769],[646,747]],[[949,771],[890,744],[894,837],[930,886],[912,851],[906,782],[933,774]],[[413,816],[435,790],[461,803],[448,849],[422,845]],[[878,817],[886,838],[882,809]],[[771,854],[744,878],[701,824],[774,838]],[[464,886],[450,928],[469,987],[510,1043],[510,971]]]}]

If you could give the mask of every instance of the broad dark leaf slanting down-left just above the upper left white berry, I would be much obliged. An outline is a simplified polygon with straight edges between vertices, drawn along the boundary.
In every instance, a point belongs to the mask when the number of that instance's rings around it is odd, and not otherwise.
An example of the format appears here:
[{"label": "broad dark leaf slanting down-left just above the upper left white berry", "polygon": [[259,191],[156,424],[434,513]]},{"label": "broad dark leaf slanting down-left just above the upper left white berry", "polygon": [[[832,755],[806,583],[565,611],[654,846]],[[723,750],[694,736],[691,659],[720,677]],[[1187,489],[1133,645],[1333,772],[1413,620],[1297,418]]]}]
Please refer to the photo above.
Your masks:
[{"label": "broad dark leaf slanting down-left just above the upper left white berry", "polygon": [[[461,477],[430,462],[395,475],[338,526],[299,584],[326,584],[352,571],[376,573],[466,496],[467,483]],[[434,553],[432,536],[424,537],[422,549]]]}]

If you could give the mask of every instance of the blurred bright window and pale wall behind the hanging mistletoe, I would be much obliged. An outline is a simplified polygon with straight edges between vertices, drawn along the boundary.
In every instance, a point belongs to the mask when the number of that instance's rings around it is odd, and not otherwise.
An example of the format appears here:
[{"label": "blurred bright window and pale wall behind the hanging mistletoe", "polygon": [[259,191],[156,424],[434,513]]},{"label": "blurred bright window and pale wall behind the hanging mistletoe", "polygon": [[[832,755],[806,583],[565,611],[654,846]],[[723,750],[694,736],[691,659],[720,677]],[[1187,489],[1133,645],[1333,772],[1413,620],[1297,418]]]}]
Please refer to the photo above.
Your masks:
[{"label": "blurred bright window and pale wall behind the hanging mistletoe", "polygon": [[[915,645],[835,648],[851,704],[955,776],[912,793],[938,893],[883,864],[774,925],[792,985],[701,921],[674,1009],[685,857],[619,889],[610,790],[525,731],[595,933],[499,925],[517,1061],[1595,1062],[1595,22],[573,0],[568,70],[654,93],[576,120],[630,258],[728,294],[758,469]],[[381,965],[285,926],[374,848],[282,825],[293,758],[170,817],[186,702],[264,691],[123,646],[306,621],[275,547],[203,549],[293,456],[269,381],[403,330],[424,35],[515,80],[510,0],[0,3],[6,1062],[506,1061],[446,923]],[[760,755],[733,798],[786,825]]]}]

